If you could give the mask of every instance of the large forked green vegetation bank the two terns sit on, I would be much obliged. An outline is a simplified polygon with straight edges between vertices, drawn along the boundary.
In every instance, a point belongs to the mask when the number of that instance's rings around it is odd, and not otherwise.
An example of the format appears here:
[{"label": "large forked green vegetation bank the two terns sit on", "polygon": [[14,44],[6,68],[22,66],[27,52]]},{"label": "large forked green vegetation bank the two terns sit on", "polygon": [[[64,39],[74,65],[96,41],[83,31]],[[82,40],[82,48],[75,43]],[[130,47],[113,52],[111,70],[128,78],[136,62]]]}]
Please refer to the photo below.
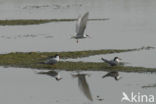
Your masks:
[{"label": "large forked green vegetation bank the two terns sit on", "polygon": [[[150,48],[150,47],[149,47]],[[148,49],[149,49],[148,48]],[[105,71],[125,71],[125,72],[155,72],[155,68],[130,67],[130,66],[115,66],[110,67],[105,63],[95,62],[69,62],[60,61],[55,65],[42,64],[49,56],[56,53],[60,55],[61,59],[87,57],[98,54],[111,54],[120,52],[137,51],[140,49],[107,49],[107,50],[88,50],[75,52],[15,52],[0,55],[1,66],[23,67],[23,68],[38,68],[38,69],[62,69],[62,70],[105,70]]]}]

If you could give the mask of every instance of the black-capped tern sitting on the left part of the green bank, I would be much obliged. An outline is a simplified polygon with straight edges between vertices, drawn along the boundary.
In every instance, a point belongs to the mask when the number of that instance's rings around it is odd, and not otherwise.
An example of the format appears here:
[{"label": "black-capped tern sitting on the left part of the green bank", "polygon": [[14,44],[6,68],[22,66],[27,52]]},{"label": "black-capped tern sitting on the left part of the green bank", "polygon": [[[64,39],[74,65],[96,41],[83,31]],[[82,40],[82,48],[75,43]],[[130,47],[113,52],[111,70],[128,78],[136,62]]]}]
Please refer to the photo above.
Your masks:
[{"label": "black-capped tern sitting on the left part of the green bank", "polygon": [[51,56],[49,59],[47,59],[44,64],[56,64],[57,62],[59,62],[60,57],[58,54],[56,54],[55,56]]}]

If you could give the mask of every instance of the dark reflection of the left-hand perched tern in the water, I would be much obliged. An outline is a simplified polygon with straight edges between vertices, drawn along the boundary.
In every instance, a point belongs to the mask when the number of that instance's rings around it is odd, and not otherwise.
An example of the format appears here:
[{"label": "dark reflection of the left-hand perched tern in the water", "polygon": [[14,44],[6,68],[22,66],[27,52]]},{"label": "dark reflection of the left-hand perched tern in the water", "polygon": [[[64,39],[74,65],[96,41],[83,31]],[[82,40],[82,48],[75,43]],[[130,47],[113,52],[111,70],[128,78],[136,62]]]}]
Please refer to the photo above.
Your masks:
[{"label": "dark reflection of the left-hand perched tern in the water", "polygon": [[48,71],[48,72],[39,72],[38,74],[46,74],[49,75],[51,77],[54,77],[57,81],[60,81],[62,78],[60,76],[60,74],[56,71]]}]

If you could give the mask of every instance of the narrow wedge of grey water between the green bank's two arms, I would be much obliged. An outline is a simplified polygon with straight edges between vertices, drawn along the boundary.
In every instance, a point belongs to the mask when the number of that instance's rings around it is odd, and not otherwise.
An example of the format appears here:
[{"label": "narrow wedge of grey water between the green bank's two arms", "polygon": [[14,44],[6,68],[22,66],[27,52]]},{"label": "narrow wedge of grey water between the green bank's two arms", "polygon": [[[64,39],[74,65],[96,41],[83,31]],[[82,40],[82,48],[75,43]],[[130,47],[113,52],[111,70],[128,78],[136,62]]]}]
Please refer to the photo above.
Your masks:
[{"label": "narrow wedge of grey water between the green bank's two arms", "polygon": [[103,62],[101,58],[105,58],[108,60],[112,60],[114,57],[118,56],[122,60],[125,66],[141,66],[147,68],[156,68],[156,58],[155,56],[156,50],[141,50],[134,52],[124,52],[124,53],[115,53],[115,54],[107,54],[107,55],[95,55],[85,58],[77,58],[77,59],[67,59],[63,61],[73,61],[73,62]]}]

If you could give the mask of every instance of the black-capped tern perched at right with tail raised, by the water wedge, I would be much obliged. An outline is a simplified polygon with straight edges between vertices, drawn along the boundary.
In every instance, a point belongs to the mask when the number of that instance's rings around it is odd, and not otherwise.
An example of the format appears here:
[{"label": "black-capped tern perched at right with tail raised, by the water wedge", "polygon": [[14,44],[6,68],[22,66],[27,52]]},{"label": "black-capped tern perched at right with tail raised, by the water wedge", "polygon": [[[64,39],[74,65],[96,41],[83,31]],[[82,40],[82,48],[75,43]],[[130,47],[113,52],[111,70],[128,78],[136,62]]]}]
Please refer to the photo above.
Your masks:
[{"label": "black-capped tern perched at right with tail raised, by the water wedge", "polygon": [[104,59],[104,58],[101,58],[104,62],[106,62],[107,64],[109,64],[110,66],[116,66],[119,64],[120,62],[120,58],[119,57],[114,57],[113,60],[107,60],[107,59]]}]

